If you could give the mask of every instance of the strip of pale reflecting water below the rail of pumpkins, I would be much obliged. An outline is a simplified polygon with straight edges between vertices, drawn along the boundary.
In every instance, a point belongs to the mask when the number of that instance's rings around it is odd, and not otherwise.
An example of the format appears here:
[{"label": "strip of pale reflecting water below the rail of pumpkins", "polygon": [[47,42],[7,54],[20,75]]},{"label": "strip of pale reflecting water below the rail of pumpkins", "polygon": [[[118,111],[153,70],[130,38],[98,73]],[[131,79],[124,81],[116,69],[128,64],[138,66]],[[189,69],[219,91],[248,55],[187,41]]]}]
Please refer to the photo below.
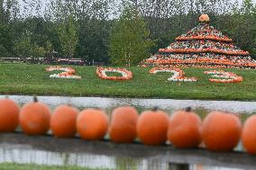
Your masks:
[{"label": "strip of pale reflecting water below the rail of pumpkins", "polygon": [[[0,163],[45,166],[81,166],[116,170],[169,170],[169,163],[151,158],[110,157],[87,153],[59,153],[26,145],[0,144]],[[194,165],[190,170],[240,170],[238,168]]]}]

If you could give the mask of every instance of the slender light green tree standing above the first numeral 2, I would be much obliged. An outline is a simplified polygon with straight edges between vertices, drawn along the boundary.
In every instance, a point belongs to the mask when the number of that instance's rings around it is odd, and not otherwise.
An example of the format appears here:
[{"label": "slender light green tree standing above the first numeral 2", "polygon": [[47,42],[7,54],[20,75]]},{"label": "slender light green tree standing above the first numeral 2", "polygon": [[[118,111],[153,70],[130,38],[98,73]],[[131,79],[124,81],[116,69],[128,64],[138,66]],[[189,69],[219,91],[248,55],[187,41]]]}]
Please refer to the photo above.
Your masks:
[{"label": "slender light green tree standing above the first numeral 2", "polygon": [[58,34],[63,55],[72,58],[78,46],[77,25],[72,15],[59,25]]}]

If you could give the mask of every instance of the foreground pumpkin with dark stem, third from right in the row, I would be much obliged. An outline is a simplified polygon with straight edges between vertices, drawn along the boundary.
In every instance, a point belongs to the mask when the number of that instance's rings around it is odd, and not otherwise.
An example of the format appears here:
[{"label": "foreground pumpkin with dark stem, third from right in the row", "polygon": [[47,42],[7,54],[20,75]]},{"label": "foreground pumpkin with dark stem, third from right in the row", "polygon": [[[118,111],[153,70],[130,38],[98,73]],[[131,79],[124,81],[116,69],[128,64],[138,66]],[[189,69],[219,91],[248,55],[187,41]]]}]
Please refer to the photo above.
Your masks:
[{"label": "foreground pumpkin with dark stem, third from right in the row", "polygon": [[168,139],[176,148],[196,148],[201,143],[202,120],[191,108],[174,112],[169,119]]}]

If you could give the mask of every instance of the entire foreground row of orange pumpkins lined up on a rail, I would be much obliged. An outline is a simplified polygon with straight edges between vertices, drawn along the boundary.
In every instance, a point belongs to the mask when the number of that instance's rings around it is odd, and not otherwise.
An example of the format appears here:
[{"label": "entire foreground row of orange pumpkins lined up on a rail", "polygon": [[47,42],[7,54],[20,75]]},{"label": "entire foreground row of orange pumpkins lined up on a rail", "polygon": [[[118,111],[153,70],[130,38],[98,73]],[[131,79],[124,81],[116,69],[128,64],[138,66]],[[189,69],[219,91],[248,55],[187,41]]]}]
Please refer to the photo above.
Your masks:
[{"label": "entire foreground row of orange pumpkins lined up on a rail", "polygon": [[[45,103],[34,101],[22,108],[13,100],[0,99],[0,132],[12,132],[20,125],[27,135],[44,135],[51,130],[57,138],[102,140],[108,133],[115,143],[158,146],[169,141],[176,148],[205,146],[212,151],[232,151],[242,139],[249,154],[256,154],[256,115],[245,121],[228,112],[210,112],[204,121],[191,108],[167,112],[157,108],[140,115],[131,106],[115,108],[111,121],[100,109],[79,112],[71,105],[59,105],[54,112]],[[203,144],[203,145],[202,145]]]}]

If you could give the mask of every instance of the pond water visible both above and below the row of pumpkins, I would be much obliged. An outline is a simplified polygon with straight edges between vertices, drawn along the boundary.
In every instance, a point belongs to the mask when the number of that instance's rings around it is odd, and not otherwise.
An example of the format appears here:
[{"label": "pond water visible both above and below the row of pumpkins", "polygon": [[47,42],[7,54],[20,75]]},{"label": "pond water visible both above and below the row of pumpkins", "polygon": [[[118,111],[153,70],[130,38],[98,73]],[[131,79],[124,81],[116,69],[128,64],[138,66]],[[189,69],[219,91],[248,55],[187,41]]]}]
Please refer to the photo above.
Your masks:
[{"label": "pond water visible both above and below the row of pumpkins", "polygon": [[[2,95],[0,98],[4,98]],[[9,98],[23,105],[32,101],[32,96],[11,95]],[[39,96],[39,101],[47,103],[52,109],[59,104],[69,103],[80,110],[89,107],[105,109],[107,113],[120,105],[133,105],[140,112],[158,106],[169,113],[183,109],[187,106],[194,108],[201,117],[213,110],[223,110],[235,114],[245,115],[245,118],[256,112],[256,102],[239,101],[193,101],[193,100],[171,100],[171,99],[127,99],[127,98],[103,98],[103,97],[62,97],[62,96]],[[242,116],[244,118],[244,116]],[[245,119],[244,118],[244,119]],[[242,150],[241,145],[236,148]],[[30,145],[4,142],[0,144],[0,163],[14,162],[21,164],[37,164],[49,166],[83,166],[90,168],[109,169],[138,169],[138,170],[167,170],[169,163],[151,159],[150,157],[115,157],[113,155],[77,152],[59,152],[55,149],[34,148]],[[236,170],[219,166],[191,165],[191,170]]]}]

